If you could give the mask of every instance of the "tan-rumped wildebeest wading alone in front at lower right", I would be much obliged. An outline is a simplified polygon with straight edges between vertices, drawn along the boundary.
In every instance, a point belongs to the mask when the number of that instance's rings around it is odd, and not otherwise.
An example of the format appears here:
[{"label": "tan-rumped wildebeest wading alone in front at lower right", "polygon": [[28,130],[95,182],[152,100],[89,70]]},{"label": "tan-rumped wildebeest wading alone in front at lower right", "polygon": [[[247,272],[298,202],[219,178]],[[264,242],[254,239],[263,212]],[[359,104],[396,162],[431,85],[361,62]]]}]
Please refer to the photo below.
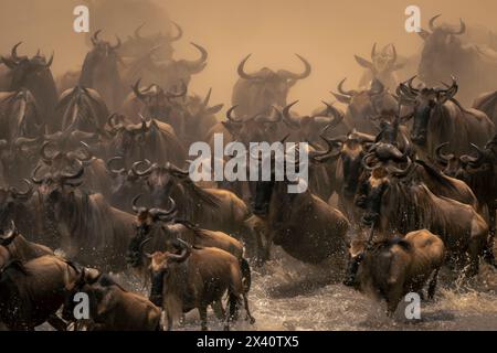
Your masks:
[{"label": "tan-rumped wildebeest wading alone in front at lower right", "polygon": [[384,299],[388,313],[393,314],[402,298],[409,292],[422,293],[429,279],[429,298],[434,297],[444,250],[440,237],[426,229],[379,243],[356,239],[343,284]]}]

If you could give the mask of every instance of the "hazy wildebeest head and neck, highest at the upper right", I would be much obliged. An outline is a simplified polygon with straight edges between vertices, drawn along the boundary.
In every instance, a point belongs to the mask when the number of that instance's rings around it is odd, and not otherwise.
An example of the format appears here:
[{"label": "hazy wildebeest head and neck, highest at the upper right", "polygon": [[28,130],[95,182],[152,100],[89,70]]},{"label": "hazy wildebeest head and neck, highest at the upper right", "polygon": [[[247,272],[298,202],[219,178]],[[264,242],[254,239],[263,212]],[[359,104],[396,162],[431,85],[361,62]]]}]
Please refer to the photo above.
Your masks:
[{"label": "hazy wildebeest head and neck, highest at the upper right", "polygon": [[454,73],[459,73],[459,63],[465,61],[465,51],[458,35],[466,32],[466,24],[461,20],[457,30],[447,25],[435,26],[441,14],[430,20],[430,31],[422,30],[419,34],[424,40],[424,47],[417,72],[426,85],[436,85]]}]

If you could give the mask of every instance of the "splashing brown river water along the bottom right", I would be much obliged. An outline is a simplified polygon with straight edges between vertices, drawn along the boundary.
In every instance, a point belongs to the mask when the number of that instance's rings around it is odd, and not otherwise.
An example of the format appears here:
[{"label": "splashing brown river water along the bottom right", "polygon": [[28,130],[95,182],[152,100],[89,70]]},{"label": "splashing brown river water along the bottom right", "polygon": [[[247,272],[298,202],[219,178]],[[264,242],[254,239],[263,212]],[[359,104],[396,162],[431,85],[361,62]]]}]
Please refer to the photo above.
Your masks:
[{"label": "splashing brown river water along the bottom right", "polygon": [[[243,320],[242,310],[232,330],[497,330],[497,270],[487,265],[482,265],[479,275],[469,282],[455,280],[448,270],[442,270],[434,300],[423,301],[421,319],[412,321],[403,314],[405,303],[389,318],[384,302],[341,285],[332,264],[305,265],[277,248],[273,258],[262,269],[253,270],[250,306],[255,324]],[[140,289],[137,282],[133,286]],[[199,329],[197,311],[187,314],[183,325],[176,327]],[[209,329],[223,329],[212,312]]]}]

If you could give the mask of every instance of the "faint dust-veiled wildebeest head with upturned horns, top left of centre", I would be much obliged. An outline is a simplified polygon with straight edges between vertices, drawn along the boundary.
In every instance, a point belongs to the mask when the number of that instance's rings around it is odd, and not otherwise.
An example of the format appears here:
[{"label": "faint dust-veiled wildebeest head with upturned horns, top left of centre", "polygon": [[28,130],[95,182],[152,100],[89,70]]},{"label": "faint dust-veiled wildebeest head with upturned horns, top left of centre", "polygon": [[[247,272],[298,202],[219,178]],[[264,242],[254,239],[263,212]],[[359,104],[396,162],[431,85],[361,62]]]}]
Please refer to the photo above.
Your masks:
[{"label": "faint dust-veiled wildebeest head with upturned horns, top left of centre", "polygon": [[171,60],[173,53],[171,44],[179,41],[183,34],[183,31],[178,23],[172,22],[172,25],[176,28],[176,35],[165,35],[162,33],[142,35],[141,30],[145,26],[145,23],[139,25],[134,34],[128,36],[119,47],[119,55],[123,57],[139,57],[142,53],[150,51],[152,47],[160,46],[160,50],[156,52],[157,58],[160,61]]}]

